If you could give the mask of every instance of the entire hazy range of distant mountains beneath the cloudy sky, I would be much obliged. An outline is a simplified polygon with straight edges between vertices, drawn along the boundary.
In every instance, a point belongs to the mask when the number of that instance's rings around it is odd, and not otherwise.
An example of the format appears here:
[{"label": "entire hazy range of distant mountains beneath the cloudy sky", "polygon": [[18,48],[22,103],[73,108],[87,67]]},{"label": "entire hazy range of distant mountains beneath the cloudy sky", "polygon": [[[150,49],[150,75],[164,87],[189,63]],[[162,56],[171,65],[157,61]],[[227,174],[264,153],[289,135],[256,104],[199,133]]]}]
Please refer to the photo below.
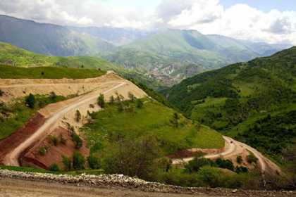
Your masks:
[{"label": "entire hazy range of distant mountains beneath the cloudy sky", "polygon": [[196,30],[67,27],[6,15],[0,15],[0,42],[49,56],[100,56],[166,85],[288,47],[205,35]]}]

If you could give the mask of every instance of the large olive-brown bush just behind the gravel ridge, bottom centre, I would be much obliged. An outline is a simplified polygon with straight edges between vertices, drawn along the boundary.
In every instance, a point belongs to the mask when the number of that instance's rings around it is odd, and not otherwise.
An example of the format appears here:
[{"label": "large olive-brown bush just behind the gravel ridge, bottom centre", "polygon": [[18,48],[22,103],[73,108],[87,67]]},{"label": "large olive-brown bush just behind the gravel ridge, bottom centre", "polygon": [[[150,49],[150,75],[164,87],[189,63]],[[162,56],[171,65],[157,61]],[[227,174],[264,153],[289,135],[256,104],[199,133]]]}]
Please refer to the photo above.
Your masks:
[{"label": "large olive-brown bush just behind the gravel ridge, bottom centre", "polygon": [[158,169],[159,146],[151,137],[119,141],[106,154],[104,170],[108,174],[151,179]]}]

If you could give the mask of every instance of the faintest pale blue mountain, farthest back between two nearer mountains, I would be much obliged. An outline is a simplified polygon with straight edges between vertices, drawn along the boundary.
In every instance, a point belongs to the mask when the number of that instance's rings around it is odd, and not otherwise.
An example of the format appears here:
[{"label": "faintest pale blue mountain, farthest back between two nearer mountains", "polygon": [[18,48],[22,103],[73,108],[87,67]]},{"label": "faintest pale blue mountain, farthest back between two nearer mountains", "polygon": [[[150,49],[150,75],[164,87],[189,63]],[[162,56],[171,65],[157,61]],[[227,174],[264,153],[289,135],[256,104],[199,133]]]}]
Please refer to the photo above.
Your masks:
[{"label": "faintest pale blue mountain, farthest back between two nearer mountains", "polygon": [[70,30],[80,32],[82,34],[90,34],[115,46],[130,44],[137,39],[147,37],[154,32],[144,30],[133,30],[116,27],[69,27]]}]

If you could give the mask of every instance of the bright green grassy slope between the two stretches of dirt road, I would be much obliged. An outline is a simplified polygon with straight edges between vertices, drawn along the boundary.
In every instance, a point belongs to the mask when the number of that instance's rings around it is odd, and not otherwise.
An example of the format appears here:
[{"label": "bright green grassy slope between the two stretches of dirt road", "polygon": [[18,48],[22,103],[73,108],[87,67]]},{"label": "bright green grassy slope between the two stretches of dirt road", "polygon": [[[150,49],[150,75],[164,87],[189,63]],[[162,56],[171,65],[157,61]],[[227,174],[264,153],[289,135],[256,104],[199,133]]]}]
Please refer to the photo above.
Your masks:
[{"label": "bright green grassy slope between the two stretches of dirt road", "polygon": [[[129,103],[131,106],[134,103]],[[181,116],[179,127],[170,122],[174,110],[156,101],[146,101],[144,108],[133,112],[119,113],[116,105],[94,113],[91,124],[83,129],[90,141],[92,151],[113,146],[112,138],[137,140],[140,136],[154,136],[165,154],[185,148],[221,148],[224,146],[221,134],[209,127],[197,128],[190,120]]]}]

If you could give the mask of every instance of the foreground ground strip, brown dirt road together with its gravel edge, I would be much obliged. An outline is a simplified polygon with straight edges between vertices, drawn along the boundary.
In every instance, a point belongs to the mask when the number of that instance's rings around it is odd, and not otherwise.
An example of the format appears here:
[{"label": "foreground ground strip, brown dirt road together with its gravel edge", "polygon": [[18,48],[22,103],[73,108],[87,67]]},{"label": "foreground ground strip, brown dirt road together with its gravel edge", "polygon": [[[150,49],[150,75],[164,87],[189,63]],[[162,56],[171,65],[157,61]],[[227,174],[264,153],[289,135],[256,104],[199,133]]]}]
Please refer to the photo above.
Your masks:
[{"label": "foreground ground strip, brown dirt road together with its gravel edge", "polygon": [[0,196],[85,196],[85,192],[88,196],[296,196],[293,191],[185,188],[122,174],[70,176],[8,170],[0,170],[0,191]]}]

